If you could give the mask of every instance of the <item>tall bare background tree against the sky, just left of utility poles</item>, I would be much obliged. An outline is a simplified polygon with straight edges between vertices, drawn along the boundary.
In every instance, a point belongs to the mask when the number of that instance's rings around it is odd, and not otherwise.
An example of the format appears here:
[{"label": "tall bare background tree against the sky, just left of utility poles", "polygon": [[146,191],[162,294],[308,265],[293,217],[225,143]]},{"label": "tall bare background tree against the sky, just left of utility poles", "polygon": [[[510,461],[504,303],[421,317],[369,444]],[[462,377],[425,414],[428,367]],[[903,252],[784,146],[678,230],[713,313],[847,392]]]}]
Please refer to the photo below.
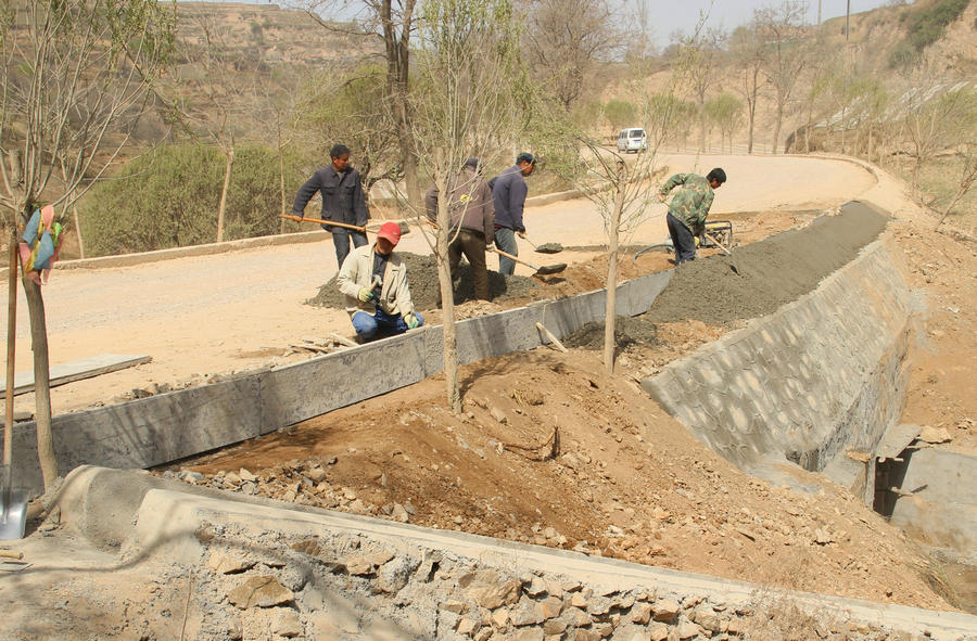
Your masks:
[{"label": "tall bare background tree against the sky, just left of utility poles", "polygon": [[758,36],[766,49],[763,72],[776,103],[771,149],[773,153],[777,153],[784,118],[801,73],[809,63],[803,37],[804,5],[786,0],[777,7],[758,9],[753,16]]}]

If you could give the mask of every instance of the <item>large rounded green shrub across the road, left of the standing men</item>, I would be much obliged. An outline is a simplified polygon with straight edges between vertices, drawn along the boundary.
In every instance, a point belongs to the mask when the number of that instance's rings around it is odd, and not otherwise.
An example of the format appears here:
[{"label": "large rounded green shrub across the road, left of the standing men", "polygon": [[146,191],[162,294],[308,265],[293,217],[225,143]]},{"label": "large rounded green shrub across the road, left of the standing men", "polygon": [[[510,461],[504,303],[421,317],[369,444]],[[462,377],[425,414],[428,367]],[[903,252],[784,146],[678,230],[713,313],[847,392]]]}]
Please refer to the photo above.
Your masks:
[{"label": "large rounded green shrub across the road, left of the standing men", "polygon": [[[286,162],[286,194],[294,197],[306,178],[299,162]],[[79,205],[86,248],[92,256],[148,252],[212,243],[225,157],[219,150],[167,145],[125,165]],[[267,148],[239,146],[225,215],[225,239],[276,233],[281,195],[278,155]]]}]

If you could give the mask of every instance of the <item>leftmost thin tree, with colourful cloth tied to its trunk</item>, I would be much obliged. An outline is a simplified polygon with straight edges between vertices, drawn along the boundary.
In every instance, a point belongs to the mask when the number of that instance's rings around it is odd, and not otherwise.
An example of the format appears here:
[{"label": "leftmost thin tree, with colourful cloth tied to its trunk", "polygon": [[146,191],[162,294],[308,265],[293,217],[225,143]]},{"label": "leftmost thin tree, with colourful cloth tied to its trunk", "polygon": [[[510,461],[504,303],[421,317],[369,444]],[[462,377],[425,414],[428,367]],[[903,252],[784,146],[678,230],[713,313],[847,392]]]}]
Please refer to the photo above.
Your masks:
[{"label": "leftmost thin tree, with colourful cloth tied to its trunk", "polygon": [[[129,141],[173,51],[175,7],[156,0],[23,0],[0,13],[0,208],[23,227],[42,201],[71,205]],[[62,167],[64,171],[62,172]],[[40,285],[30,316],[38,454],[58,477]]]}]

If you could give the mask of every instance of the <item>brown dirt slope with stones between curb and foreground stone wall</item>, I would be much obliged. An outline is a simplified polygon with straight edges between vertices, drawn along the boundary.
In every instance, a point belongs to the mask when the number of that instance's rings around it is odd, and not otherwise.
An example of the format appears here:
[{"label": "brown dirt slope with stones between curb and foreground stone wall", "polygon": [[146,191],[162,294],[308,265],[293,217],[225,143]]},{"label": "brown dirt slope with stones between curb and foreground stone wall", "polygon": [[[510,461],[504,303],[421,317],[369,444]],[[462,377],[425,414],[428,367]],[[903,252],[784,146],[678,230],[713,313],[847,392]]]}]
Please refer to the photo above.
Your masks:
[{"label": "brown dirt slope with stones between curb and foreground stone wall", "polygon": [[[663,335],[670,335],[663,332]],[[683,338],[678,337],[682,341]],[[739,472],[599,355],[546,348],[441,376],[167,475],[230,491],[785,588],[948,605],[926,560],[802,470],[798,495]]]}]

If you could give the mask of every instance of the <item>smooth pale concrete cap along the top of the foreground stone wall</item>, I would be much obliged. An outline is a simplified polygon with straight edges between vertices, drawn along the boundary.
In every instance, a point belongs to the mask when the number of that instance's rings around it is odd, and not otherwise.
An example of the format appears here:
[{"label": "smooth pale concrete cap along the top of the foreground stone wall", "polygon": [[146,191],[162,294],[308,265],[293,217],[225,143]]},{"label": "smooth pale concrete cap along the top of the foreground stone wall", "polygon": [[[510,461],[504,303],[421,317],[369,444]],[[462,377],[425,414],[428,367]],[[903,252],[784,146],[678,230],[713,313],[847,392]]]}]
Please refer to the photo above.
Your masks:
[{"label": "smooth pale concrete cap along the top of the foreground stone wall", "polygon": [[[282,540],[330,533],[379,542],[401,554],[448,553],[473,566],[507,574],[564,575],[600,592],[654,588],[678,598],[708,594],[710,601],[728,606],[745,606],[758,598],[786,600],[809,613],[828,612],[841,620],[928,633],[935,639],[973,639],[977,630],[977,617],[966,614],[779,590],[369,516],[314,508],[299,511],[272,500],[256,504],[256,501],[231,500],[217,490],[202,492],[178,482],[150,478],[135,471],[79,467],[65,479],[65,488],[59,499],[62,523],[97,542],[116,541],[129,559],[154,553],[165,554],[168,561],[203,564],[206,551],[198,533],[207,528],[225,535],[261,533],[266,539]],[[100,514],[104,510],[111,510],[112,514],[109,517]],[[99,529],[92,531],[96,525]]]}]

